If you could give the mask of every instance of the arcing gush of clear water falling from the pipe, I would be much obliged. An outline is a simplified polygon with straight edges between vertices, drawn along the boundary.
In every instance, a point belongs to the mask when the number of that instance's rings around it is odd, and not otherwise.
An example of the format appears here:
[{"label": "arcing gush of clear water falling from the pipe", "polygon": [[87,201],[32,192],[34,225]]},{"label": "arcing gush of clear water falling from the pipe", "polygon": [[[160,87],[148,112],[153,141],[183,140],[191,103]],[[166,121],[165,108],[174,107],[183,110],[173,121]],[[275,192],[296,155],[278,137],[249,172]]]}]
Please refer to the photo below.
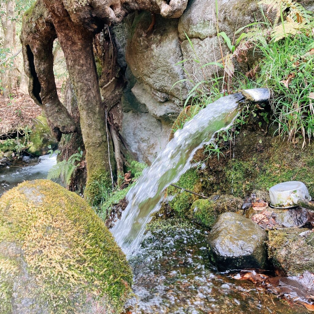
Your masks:
[{"label": "arcing gush of clear water falling from the pipe", "polygon": [[192,120],[176,131],[174,138],[143,171],[135,186],[127,193],[127,208],[121,220],[111,229],[127,256],[139,248],[146,224],[161,207],[164,190],[193,165],[195,152],[214,139],[218,131],[230,127],[238,114],[241,94],[228,95],[201,110]]}]

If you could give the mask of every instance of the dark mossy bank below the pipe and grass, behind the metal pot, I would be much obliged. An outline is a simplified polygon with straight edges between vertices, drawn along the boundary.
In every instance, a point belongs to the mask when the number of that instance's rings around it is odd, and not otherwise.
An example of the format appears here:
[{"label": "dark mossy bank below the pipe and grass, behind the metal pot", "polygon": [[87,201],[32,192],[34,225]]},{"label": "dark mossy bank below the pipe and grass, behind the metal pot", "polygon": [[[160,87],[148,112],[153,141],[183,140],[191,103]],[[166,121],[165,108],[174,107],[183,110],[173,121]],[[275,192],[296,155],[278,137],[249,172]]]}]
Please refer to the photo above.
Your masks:
[{"label": "dark mossy bank below the pipe and grass, behind the metal pot", "polygon": [[[279,138],[252,129],[244,129],[236,137],[234,158],[230,153],[208,158],[206,168],[200,171],[203,192],[232,194],[245,198],[252,191],[268,192],[273,185],[284,181],[302,181],[311,196],[314,196],[314,145],[302,149],[301,141],[288,145]],[[229,147],[229,143],[228,143]],[[195,161],[203,161],[204,154],[194,156]]]}]

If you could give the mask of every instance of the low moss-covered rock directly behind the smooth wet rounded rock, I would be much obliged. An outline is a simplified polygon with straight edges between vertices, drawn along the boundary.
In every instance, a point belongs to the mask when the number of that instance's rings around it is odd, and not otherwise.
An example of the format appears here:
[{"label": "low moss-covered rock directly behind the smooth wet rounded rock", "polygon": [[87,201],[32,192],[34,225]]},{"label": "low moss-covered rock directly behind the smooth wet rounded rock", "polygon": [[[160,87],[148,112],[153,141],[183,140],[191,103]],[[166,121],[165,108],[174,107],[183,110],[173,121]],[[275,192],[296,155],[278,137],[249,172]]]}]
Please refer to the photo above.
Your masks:
[{"label": "low moss-covered rock directly behind the smooth wet rounded rock", "polygon": [[217,217],[225,212],[236,212],[242,207],[242,199],[232,195],[216,195],[210,199],[198,199],[190,208],[193,220],[206,228],[211,228]]}]

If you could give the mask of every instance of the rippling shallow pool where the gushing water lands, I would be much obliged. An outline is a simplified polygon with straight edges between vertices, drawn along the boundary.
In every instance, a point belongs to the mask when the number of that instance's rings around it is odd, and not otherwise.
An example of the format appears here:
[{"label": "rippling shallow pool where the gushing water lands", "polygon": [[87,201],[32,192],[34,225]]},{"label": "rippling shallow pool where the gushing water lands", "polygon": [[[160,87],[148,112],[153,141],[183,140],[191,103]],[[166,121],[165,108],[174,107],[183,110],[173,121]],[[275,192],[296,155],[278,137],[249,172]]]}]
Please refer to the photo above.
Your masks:
[{"label": "rippling shallow pool where the gushing water lands", "polygon": [[[259,290],[251,282],[218,273],[209,263],[208,234],[192,225],[169,222],[151,230],[130,259],[135,296],[126,314],[284,313],[307,311]],[[260,299],[260,300],[259,300]]]}]

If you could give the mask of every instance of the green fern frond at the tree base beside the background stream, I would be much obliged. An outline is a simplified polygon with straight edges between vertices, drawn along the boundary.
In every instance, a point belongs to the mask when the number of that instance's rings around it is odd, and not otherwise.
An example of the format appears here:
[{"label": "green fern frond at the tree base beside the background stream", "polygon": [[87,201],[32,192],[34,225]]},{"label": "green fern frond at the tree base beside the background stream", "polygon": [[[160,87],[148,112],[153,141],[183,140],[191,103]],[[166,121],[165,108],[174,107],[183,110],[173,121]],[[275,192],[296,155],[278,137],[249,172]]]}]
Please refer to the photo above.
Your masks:
[{"label": "green fern frond at the tree base beside the background stream", "polygon": [[47,175],[48,180],[58,179],[63,177],[67,185],[70,184],[71,176],[74,170],[78,167],[78,163],[81,161],[83,151],[71,155],[68,160],[62,160],[57,162],[49,171]]}]

